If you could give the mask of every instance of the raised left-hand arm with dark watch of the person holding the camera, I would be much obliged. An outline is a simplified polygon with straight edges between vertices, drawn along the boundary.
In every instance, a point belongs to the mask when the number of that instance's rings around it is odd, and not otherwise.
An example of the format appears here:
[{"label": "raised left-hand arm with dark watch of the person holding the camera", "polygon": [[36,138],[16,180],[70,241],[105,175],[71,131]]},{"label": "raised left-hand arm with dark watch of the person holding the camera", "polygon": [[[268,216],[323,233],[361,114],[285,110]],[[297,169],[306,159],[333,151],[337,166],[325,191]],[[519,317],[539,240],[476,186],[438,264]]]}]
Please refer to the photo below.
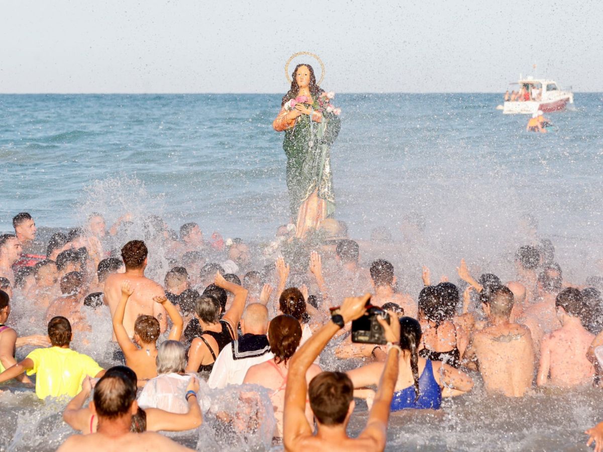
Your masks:
[{"label": "raised left-hand arm with dark watch of the person holding the camera", "polygon": [[[344,322],[359,318],[365,312],[365,304],[369,298],[369,293],[363,297],[346,298],[339,310]],[[306,372],[337,331],[339,326],[333,322],[323,325],[295,352],[289,362],[283,410],[283,439],[286,450],[296,449],[298,441],[312,435],[312,427],[308,424],[305,413],[308,392]]]}]

